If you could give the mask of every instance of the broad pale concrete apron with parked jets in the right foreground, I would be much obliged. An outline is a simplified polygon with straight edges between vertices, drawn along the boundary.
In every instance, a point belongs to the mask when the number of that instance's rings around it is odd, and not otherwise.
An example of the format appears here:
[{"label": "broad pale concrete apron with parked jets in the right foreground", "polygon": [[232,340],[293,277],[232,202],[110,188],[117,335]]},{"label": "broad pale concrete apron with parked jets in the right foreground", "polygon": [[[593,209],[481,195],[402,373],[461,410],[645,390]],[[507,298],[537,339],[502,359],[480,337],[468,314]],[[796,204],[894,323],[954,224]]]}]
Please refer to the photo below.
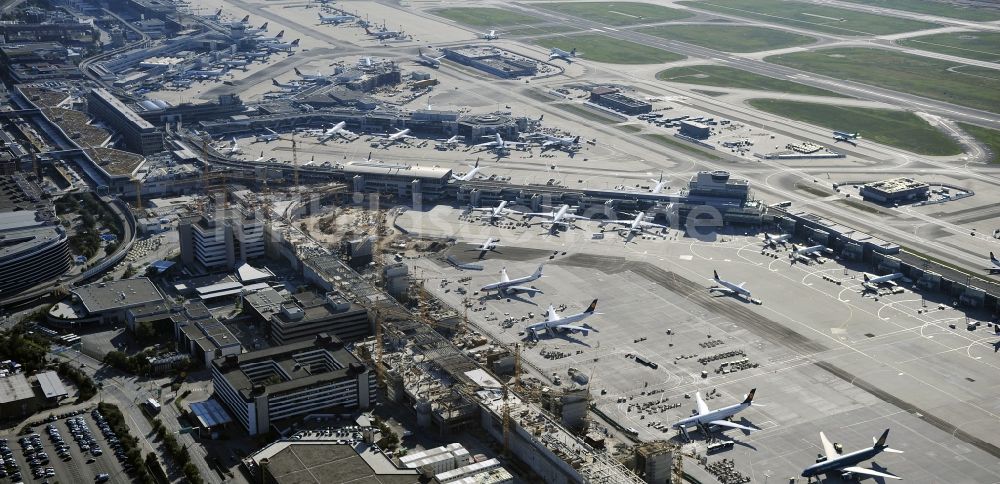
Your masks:
[{"label": "broad pale concrete apron with parked jets in the right foreground", "polygon": [[[398,222],[408,229],[426,216],[407,215]],[[756,237],[722,235],[702,242],[671,231],[665,238],[639,239],[625,247],[611,232],[604,240],[590,240],[595,228],[585,224],[558,236],[541,236],[535,229],[422,223],[419,232],[427,235],[457,235],[470,243],[494,236],[501,238],[501,247],[481,262],[481,272],[459,272],[427,259],[417,265],[432,280],[472,277],[470,286],[476,288],[494,282],[501,266],[519,277],[548,261],[545,276],[532,283],[543,291],[534,298],[486,298],[480,303],[479,296],[470,295],[474,307],[486,308],[470,311],[472,322],[506,343],[523,343],[518,332],[528,324],[518,321],[504,328],[499,323],[508,314],[533,312],[530,321],[535,322],[549,303],[568,305],[561,311],[567,315],[599,298],[602,314],[586,321],[599,332],[543,336],[522,351],[525,368],[552,387],[553,373],[561,377],[561,386],[572,384],[570,367],[592,375],[599,408],[637,429],[643,439],[678,438],[675,431],[652,425],[669,426],[687,416],[694,405],[685,395],[711,395],[707,403],[717,408],[757,388],[755,401],[766,407],[751,408],[734,421],[762,430],[724,432],[738,444],[713,457],[735,459],[741,472],[757,479],[768,471],[772,476],[801,472],[814,461],[820,430],[853,450],[870,445],[871,437],[885,428],[892,429],[891,445],[906,454],[875,461],[907,480],[1000,478],[995,466],[1000,418],[993,397],[1000,359],[992,347],[997,338],[985,325],[967,331],[963,313],[939,307],[934,295],[924,300],[909,288],[878,301],[862,297],[854,268],[845,274],[835,261],[791,265],[784,251],[776,258],[762,255]],[[559,255],[549,260],[547,254],[554,250]],[[724,279],[746,281],[763,305],[709,295],[713,269]],[[425,287],[461,307],[456,283]],[[742,354],[698,361],[737,350]],[[566,356],[546,358],[543,351]],[[630,354],[640,354],[658,368],[640,365]],[[742,358],[758,366],[715,372],[721,362]],[[708,371],[704,379],[703,370]],[[704,446],[700,434],[694,437],[694,445]]]}]

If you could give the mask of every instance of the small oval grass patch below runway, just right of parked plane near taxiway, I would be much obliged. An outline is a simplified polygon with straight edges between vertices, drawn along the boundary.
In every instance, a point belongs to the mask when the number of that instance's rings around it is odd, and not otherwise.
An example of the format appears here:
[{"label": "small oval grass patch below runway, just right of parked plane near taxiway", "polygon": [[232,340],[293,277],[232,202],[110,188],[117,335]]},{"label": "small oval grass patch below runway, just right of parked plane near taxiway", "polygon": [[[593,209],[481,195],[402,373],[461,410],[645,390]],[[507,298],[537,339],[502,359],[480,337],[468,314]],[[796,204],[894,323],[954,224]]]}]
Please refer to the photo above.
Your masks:
[{"label": "small oval grass patch below runway, just right of parked plane near taxiway", "polygon": [[584,59],[608,64],[662,64],[685,58],[673,52],[600,34],[544,37],[535,39],[534,42],[548,49],[577,49]]}]

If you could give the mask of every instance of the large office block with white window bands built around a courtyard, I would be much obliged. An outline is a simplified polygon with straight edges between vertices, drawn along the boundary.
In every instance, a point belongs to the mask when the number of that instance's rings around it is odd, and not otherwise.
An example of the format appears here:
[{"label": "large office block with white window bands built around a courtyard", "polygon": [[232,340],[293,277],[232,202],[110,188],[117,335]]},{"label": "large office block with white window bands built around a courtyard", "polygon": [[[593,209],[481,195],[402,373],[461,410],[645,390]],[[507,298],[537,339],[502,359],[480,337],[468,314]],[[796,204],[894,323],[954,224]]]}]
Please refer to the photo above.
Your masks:
[{"label": "large office block with white window bands built around a courtyard", "polygon": [[212,361],[215,396],[250,435],[313,413],[370,408],[375,374],[335,336]]}]

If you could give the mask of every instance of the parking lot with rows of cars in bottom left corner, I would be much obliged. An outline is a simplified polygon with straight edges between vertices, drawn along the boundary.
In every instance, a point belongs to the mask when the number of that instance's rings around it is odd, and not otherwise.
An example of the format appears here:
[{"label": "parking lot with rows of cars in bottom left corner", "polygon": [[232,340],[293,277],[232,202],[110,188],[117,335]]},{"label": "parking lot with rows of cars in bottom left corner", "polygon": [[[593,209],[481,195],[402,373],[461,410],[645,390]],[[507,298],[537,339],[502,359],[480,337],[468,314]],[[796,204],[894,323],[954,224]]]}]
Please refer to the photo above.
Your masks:
[{"label": "parking lot with rows of cars in bottom left corner", "polygon": [[117,436],[92,412],[50,417],[21,435],[0,436],[0,482],[131,482],[116,457]]}]

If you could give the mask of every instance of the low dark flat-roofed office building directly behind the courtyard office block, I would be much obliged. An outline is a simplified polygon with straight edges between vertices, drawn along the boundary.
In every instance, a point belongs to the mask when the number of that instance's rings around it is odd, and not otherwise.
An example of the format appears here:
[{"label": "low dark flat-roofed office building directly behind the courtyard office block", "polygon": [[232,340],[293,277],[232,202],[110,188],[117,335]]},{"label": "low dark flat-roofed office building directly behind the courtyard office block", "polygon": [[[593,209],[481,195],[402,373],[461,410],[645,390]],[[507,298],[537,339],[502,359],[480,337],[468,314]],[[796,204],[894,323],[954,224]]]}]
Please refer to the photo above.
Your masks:
[{"label": "low dark flat-roofed office building directly behind the courtyard office block", "polygon": [[336,292],[319,295],[307,291],[292,296],[291,302],[271,315],[271,341],[282,345],[329,333],[345,343],[360,341],[372,334],[368,311],[351,304]]}]

